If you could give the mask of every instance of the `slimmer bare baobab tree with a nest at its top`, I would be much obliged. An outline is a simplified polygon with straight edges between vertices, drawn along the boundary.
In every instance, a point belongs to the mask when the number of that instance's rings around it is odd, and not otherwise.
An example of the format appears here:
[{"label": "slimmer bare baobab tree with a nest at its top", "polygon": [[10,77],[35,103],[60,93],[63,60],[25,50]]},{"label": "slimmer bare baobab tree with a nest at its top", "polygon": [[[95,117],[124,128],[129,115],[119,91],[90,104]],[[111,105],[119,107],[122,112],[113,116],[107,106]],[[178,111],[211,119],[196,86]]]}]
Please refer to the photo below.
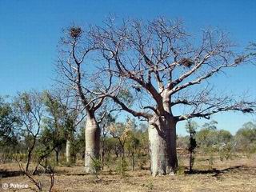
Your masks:
[{"label": "slimmer bare baobab tree with a nest at its top", "polygon": [[100,70],[102,64],[98,62],[101,57],[97,47],[90,34],[83,31],[80,26],[70,26],[64,30],[59,47],[59,75],[56,80],[62,86],[75,90],[74,97],[78,96],[85,108],[85,167],[87,173],[94,173],[94,162],[100,158],[99,123],[106,114],[98,113],[98,110],[104,104],[106,93],[113,93],[112,75]]}]

